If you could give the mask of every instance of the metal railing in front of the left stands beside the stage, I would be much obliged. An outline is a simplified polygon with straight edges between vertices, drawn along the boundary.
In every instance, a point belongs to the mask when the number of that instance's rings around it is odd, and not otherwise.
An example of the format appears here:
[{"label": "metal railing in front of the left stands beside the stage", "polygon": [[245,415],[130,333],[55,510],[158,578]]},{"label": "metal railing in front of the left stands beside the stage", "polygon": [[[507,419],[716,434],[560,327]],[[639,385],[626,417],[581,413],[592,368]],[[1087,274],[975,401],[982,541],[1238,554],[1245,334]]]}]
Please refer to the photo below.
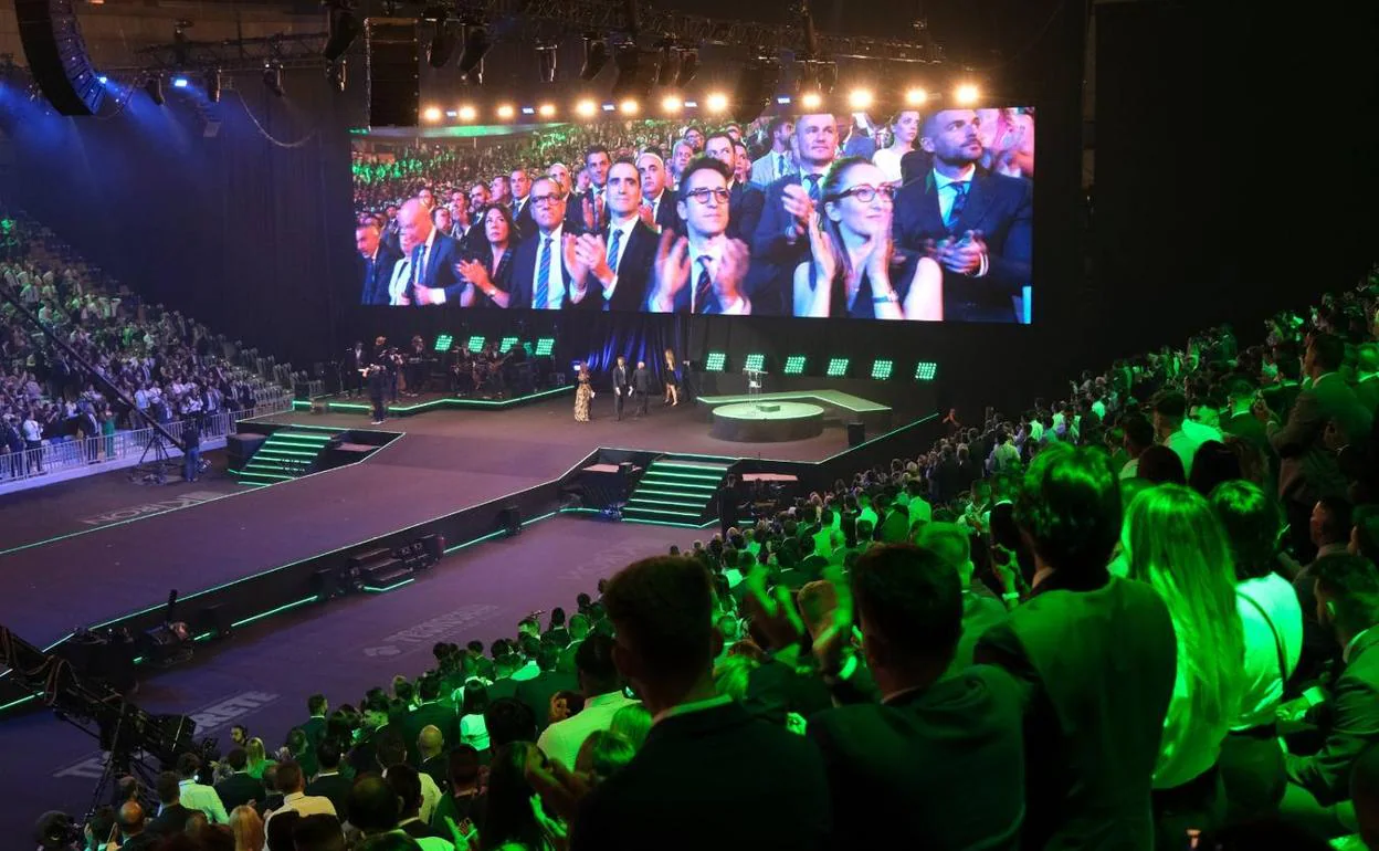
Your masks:
[{"label": "metal railing in front of the left stands beside the stage", "polygon": [[[234,430],[237,419],[250,417],[266,417],[281,414],[292,408],[291,394],[283,399],[273,399],[266,404],[259,404],[247,411],[218,411],[201,417],[201,450],[218,450],[225,445],[225,439]],[[182,422],[165,423],[174,434],[182,433]],[[152,440],[163,440],[152,428],[125,429],[113,434],[98,437],[57,439],[44,440],[41,447],[10,452],[0,450],[0,485],[23,479],[37,479],[40,476],[54,476],[80,468],[90,468],[91,473],[103,472],[108,465],[128,466],[143,457],[148,450],[149,458],[156,454],[150,448]],[[182,451],[175,445],[163,441],[163,450],[171,457],[181,457]],[[123,463],[114,463],[123,462]],[[70,479],[72,476],[62,476]]]}]

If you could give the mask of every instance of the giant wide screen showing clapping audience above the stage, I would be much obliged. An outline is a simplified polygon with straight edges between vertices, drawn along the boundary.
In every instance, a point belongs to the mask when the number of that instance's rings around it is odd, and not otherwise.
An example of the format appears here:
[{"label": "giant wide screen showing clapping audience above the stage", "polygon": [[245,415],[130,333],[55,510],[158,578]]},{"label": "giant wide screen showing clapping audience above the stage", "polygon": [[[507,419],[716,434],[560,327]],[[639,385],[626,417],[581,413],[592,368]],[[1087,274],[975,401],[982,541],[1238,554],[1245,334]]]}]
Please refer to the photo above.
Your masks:
[{"label": "giant wide screen showing clapping audience above the stage", "polygon": [[364,305],[1029,323],[1034,110],[354,142]]}]

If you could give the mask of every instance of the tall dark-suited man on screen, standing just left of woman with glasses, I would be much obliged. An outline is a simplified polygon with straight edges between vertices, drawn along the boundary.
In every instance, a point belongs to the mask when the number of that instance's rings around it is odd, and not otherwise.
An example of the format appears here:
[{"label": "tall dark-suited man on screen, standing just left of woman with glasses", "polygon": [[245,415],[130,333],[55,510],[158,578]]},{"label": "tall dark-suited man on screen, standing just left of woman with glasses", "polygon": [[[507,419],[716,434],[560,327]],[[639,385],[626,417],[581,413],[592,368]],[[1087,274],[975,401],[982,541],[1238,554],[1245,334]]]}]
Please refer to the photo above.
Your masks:
[{"label": "tall dark-suited man on screen, standing just left of woman with glasses", "polygon": [[778,178],[765,192],[761,218],[752,233],[747,290],[753,313],[790,316],[794,269],[809,258],[807,226],[823,207],[823,175],[838,152],[838,126],[832,114],[804,114],[794,124],[800,171]]}]

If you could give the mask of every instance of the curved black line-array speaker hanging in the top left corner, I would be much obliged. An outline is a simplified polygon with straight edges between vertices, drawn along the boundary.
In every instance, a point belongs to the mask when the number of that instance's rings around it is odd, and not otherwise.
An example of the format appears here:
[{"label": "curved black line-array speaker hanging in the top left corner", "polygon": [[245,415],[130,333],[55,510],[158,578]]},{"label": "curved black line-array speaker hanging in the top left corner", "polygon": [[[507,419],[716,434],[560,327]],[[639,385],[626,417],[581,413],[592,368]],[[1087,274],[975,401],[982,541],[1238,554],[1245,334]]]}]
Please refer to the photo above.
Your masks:
[{"label": "curved black line-array speaker hanging in the top left corner", "polygon": [[19,41],[43,97],[63,116],[94,116],[105,86],[91,68],[72,0],[15,0]]}]

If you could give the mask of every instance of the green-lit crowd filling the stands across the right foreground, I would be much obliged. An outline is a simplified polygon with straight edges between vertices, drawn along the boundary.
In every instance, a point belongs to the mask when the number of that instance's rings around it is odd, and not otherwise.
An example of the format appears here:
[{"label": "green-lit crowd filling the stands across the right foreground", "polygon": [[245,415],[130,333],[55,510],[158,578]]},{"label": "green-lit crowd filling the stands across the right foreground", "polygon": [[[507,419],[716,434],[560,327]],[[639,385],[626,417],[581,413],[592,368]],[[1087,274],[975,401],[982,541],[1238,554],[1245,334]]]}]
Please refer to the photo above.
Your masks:
[{"label": "green-lit crowd filling the stands across the right foreground", "polygon": [[92,847],[1379,848],[1376,295],[953,415]]}]

